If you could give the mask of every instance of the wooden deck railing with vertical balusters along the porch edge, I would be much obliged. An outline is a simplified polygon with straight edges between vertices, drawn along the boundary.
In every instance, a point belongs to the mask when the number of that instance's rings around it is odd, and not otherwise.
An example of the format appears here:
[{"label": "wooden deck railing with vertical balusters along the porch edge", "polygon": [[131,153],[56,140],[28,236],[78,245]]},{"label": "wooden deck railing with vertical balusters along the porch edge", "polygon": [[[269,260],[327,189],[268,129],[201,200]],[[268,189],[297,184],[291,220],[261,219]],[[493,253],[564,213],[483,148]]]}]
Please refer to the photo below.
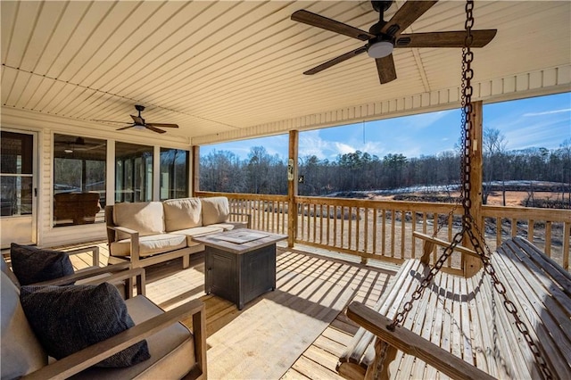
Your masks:
[{"label": "wooden deck railing with vertical balusters along the porch edge", "polygon": [[[285,195],[197,192],[225,195],[232,212],[251,214],[252,228],[287,235],[289,204]],[[422,242],[413,231],[450,241],[461,227],[461,207],[434,202],[371,201],[327,197],[295,197],[296,243],[318,246],[396,263],[422,255]],[[483,206],[485,243],[493,251],[509,236],[521,235],[569,269],[571,211],[525,207]],[[433,258],[442,251],[434,250]],[[446,267],[462,268],[454,253]]]}]

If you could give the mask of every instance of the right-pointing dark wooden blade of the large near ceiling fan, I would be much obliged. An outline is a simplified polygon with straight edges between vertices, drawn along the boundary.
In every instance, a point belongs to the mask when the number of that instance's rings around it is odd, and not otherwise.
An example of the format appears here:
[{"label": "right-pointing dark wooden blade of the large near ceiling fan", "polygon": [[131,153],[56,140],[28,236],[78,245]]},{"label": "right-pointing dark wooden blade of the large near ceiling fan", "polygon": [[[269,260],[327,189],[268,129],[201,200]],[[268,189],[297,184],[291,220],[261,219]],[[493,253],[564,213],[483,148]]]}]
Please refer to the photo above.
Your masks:
[{"label": "right-pointing dark wooden blade of the large near ceiling fan", "polygon": [[[472,30],[472,45],[484,47],[496,36],[496,29]],[[401,34],[394,47],[464,47],[466,31]]]}]

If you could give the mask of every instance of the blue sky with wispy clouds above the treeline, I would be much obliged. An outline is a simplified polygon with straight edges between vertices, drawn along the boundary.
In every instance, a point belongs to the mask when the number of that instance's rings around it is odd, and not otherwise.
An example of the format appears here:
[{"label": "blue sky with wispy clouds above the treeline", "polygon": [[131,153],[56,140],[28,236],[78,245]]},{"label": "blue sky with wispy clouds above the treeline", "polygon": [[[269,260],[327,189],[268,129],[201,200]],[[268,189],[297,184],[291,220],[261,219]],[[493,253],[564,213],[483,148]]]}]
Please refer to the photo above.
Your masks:
[{"label": "blue sky with wispy clouds above the treeline", "polygon": [[[508,150],[530,147],[558,148],[571,139],[571,93],[484,105],[484,128],[499,129]],[[454,150],[460,136],[459,110],[431,112],[389,120],[300,132],[299,155],[315,154],[335,161],[337,155],[357,150],[383,158],[388,153],[406,157],[435,155]],[[201,155],[230,151],[246,159],[252,146],[287,157],[288,136],[270,136],[201,146]]]}]

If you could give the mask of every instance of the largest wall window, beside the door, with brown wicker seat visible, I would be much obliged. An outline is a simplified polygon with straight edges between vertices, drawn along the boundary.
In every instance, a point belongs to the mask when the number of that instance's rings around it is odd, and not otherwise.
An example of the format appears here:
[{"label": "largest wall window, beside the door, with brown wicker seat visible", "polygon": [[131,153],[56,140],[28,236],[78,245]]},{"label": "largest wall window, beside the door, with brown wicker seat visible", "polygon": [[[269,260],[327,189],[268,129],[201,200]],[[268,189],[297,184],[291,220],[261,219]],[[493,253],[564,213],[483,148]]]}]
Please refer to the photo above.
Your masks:
[{"label": "largest wall window, beside the door, with brown wicker seat visible", "polygon": [[54,226],[103,222],[105,140],[54,135]]}]

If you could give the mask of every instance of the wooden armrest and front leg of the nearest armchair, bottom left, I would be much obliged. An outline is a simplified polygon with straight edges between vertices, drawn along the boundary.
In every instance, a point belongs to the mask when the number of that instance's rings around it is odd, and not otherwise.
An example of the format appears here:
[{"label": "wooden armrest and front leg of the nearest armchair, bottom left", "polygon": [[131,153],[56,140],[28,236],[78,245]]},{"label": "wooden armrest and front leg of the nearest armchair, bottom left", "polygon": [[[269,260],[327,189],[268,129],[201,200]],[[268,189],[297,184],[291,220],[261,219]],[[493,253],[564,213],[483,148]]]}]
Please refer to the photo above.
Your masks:
[{"label": "wooden armrest and front leg of the nearest armchair, bottom left", "polygon": [[188,316],[193,316],[196,361],[200,367],[199,369],[202,370],[201,376],[206,378],[206,319],[204,314],[205,309],[202,301],[193,300],[186,302],[184,305],[178,306],[178,308],[148,319],[103,342],[95,343],[70,356],[57,360],[28,376],[21,377],[21,379],[68,378]]}]

